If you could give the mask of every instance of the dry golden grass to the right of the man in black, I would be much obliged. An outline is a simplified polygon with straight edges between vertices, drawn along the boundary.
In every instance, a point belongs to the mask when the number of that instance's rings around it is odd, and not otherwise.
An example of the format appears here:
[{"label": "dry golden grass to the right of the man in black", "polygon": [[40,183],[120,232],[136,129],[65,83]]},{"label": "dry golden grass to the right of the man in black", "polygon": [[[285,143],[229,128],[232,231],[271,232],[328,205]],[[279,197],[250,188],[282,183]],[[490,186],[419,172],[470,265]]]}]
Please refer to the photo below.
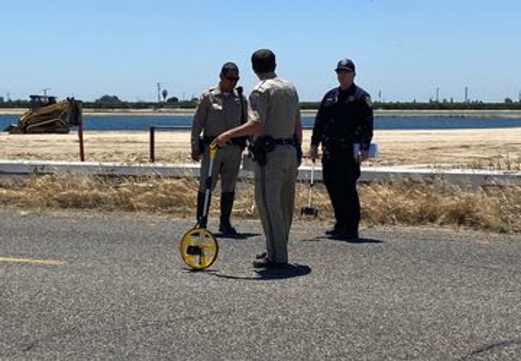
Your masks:
[{"label": "dry golden grass to the right of the man in black", "polygon": [[462,189],[400,181],[361,187],[362,217],[373,224],[463,226],[521,231],[521,187]]}]

